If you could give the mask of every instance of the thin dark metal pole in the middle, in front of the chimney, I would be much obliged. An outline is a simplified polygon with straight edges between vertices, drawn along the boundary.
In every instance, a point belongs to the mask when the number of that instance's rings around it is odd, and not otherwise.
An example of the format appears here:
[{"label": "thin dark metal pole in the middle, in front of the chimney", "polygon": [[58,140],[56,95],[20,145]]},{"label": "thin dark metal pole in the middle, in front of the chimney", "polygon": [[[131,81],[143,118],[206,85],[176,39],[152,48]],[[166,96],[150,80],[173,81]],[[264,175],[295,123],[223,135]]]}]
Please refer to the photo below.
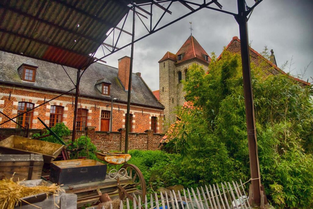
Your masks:
[{"label": "thin dark metal pole in the middle, in front of the chimney", "polygon": [[134,40],[135,40],[135,7],[133,7],[133,31],[131,36],[131,63],[129,67],[128,95],[127,95],[127,114],[126,114],[126,134],[125,134],[125,153],[128,152],[128,133],[129,133],[129,112],[131,108],[131,77],[133,71],[134,58]]}]

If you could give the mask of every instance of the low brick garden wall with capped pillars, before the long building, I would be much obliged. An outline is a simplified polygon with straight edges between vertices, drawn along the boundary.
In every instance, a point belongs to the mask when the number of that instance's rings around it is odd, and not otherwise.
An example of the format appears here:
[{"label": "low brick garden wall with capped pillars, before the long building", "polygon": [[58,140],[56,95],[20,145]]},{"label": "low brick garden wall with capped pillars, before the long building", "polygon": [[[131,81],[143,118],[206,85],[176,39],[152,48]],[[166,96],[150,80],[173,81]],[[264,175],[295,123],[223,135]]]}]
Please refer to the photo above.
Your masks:
[{"label": "low brick garden wall with capped pillars, before the long building", "polygon": [[[33,133],[42,133],[42,129],[29,129],[29,136]],[[0,141],[11,136],[24,136],[25,131],[13,128],[0,128]],[[86,135],[90,137],[92,143],[95,144],[99,150],[115,150],[124,151],[125,149],[125,128],[120,128],[115,132],[95,131],[95,127],[87,127]],[[77,131],[77,137],[84,136],[84,131]],[[152,130],[146,130],[142,133],[129,133],[128,149],[140,150],[158,150],[159,143],[163,135],[153,133]],[[71,136],[64,140],[71,139]]]}]

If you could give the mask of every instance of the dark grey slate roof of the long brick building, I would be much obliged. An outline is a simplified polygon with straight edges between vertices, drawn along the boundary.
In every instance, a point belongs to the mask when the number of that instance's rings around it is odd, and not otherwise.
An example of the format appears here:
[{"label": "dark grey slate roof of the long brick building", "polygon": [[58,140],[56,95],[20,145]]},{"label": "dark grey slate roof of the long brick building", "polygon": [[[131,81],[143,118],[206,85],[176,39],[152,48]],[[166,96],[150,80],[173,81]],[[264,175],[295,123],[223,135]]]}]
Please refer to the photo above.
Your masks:
[{"label": "dark grey slate roof of the long brick building", "polygon": [[[32,62],[33,65],[38,66],[36,81],[34,83],[21,80],[18,74],[18,67],[26,62]],[[72,80],[76,82],[77,70],[70,67],[64,68]],[[117,78],[117,73],[118,69],[115,67],[97,62],[92,64],[87,68],[81,78],[80,94],[107,100],[117,98],[120,102],[127,102],[127,91],[125,91],[120,80]],[[110,96],[102,95],[95,87],[95,83],[99,79],[105,79],[106,82],[112,83],[110,86]],[[69,80],[60,65],[3,51],[0,51],[0,83],[1,81],[29,87],[48,88],[56,91],[68,91],[74,88],[73,83]],[[164,106],[157,101],[142,78],[135,73],[132,74],[131,103],[133,105],[164,109]]]}]

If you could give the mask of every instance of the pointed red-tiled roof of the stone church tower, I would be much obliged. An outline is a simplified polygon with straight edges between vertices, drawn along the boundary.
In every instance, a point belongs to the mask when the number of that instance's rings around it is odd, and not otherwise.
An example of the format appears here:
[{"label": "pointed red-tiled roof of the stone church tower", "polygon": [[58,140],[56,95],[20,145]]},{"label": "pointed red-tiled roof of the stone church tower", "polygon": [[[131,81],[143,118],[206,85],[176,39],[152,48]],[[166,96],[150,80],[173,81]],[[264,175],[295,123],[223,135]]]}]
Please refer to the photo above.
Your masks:
[{"label": "pointed red-tiled roof of the stone church tower", "polygon": [[[177,61],[177,55],[180,55],[180,54],[182,54],[182,60]],[[205,55],[208,56],[208,61],[205,60]],[[176,55],[168,51],[159,62],[162,62],[167,59],[171,59],[171,60],[176,61],[176,64],[178,64],[178,63],[185,62],[187,60],[194,59],[194,58],[198,58],[199,60],[206,62],[206,63],[211,62],[211,57],[202,48],[199,42],[191,35],[188,37],[188,39],[185,41],[182,47],[180,47]]]}]

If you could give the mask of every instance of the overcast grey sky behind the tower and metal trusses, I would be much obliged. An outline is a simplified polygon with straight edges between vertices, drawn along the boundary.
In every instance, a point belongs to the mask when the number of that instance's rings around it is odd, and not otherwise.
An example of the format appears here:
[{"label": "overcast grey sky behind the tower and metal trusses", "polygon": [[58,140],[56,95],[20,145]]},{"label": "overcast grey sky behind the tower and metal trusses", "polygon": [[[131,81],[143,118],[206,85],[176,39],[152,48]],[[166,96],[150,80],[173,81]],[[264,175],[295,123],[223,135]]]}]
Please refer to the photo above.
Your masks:
[{"label": "overcast grey sky behind the tower and metal trusses", "polygon": [[[194,2],[201,3],[203,1]],[[236,13],[236,0],[219,0],[219,2],[223,5],[223,10]],[[247,0],[247,4],[252,6],[254,1]],[[167,6],[167,3],[164,3],[164,6]],[[190,11],[177,2],[172,4],[170,10],[172,15],[166,14],[160,22],[160,26]],[[162,11],[156,8],[153,16],[159,17]],[[273,49],[278,67],[287,60],[290,62],[293,57],[293,64],[291,67],[288,65],[284,71],[289,72],[290,68],[292,75],[301,75],[301,70],[303,72],[305,67],[313,61],[312,13],[313,3],[310,0],[264,0],[254,9],[248,22],[251,47],[260,53],[265,45],[269,50]],[[148,23],[148,20],[142,19]],[[159,89],[158,61],[167,51],[177,53],[190,35],[189,22],[192,22],[192,35],[208,54],[214,51],[219,55],[223,51],[223,46],[227,46],[233,36],[239,37],[239,27],[232,15],[204,8],[136,42],[133,72],[141,72],[141,77],[151,90]],[[126,29],[131,32],[131,15],[127,19],[126,25]],[[136,17],[135,39],[146,33],[147,30]],[[118,33],[115,32],[115,40],[117,35]],[[111,37],[107,39],[109,42],[110,40]],[[130,40],[131,36],[122,34],[118,46],[124,46]],[[104,60],[107,65],[117,67],[117,60],[125,55],[130,56],[130,46]],[[103,56],[103,51],[100,48],[96,57],[101,56]],[[309,79],[309,82],[313,81],[312,78],[313,63],[310,64],[303,76],[303,79],[305,81]]]}]

